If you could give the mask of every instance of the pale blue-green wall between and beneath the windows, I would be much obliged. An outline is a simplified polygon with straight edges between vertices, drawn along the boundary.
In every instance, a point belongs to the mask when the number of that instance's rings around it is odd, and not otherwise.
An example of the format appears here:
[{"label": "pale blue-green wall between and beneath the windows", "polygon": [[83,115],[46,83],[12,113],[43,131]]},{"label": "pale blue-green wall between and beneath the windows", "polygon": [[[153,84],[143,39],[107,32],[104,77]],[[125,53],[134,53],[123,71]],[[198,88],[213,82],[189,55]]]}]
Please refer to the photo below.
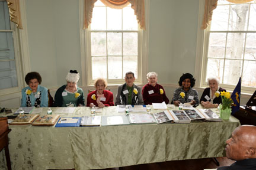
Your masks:
[{"label": "pale blue-green wall between and beneath the windows", "polygon": [[[197,19],[202,0],[145,1],[149,1],[148,71],[159,74],[158,83],[171,100],[180,76],[195,72],[197,24],[201,24]],[[31,71],[41,74],[41,85],[50,89],[52,96],[66,82],[69,70],[81,73],[81,65],[86,66],[81,63],[78,2],[25,0]],[[108,88],[116,95],[117,86]],[[88,89],[94,88],[83,89],[87,95]],[[201,96],[203,90],[198,90]],[[20,105],[20,93],[9,96],[0,94],[0,107]],[[242,97],[241,103],[245,104],[248,96]]]}]

